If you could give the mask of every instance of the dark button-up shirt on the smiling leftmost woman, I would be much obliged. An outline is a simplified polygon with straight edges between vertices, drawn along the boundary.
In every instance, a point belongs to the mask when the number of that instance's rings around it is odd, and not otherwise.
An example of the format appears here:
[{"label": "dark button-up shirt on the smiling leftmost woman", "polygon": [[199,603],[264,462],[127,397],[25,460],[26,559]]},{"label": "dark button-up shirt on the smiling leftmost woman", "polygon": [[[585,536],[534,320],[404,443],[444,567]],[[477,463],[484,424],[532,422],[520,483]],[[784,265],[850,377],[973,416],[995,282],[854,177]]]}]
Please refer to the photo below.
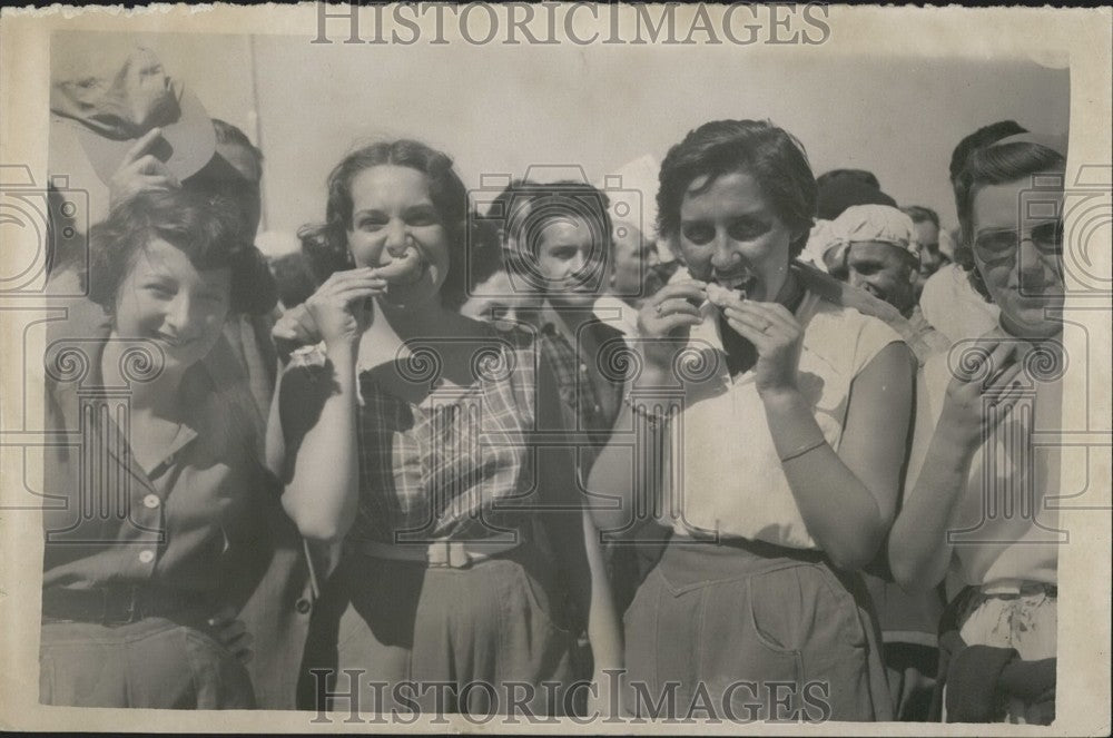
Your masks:
[{"label": "dark button-up shirt on the smiling leftmost woman", "polygon": [[[145,469],[128,444],[129,377],[101,376],[107,336],[60,338],[47,355],[43,587],[159,586],[211,592],[254,555],[237,543],[255,524],[249,500],[275,481],[254,453],[250,398],[218,390],[197,364],[181,392],[187,416]],[[59,371],[62,352],[81,356]],[[134,373],[141,373],[140,368]]]}]

